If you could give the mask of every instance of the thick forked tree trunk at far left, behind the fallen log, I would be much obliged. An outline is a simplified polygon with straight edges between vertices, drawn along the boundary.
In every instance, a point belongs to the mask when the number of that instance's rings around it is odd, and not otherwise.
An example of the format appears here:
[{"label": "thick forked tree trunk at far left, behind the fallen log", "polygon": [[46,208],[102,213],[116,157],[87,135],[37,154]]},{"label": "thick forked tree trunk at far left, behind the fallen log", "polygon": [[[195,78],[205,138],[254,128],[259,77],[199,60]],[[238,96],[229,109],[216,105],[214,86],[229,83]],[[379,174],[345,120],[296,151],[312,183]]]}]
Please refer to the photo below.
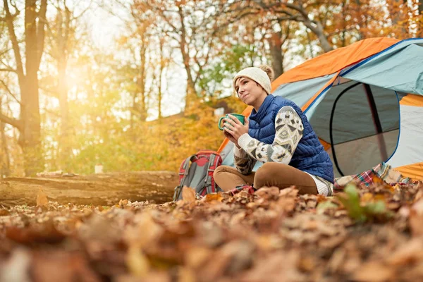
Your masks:
[{"label": "thick forked tree trunk at far left, behind the fallen log", "polygon": [[9,11],[8,0],[4,0],[6,24],[16,61],[16,73],[20,87],[20,121],[1,115],[0,118],[20,130],[19,143],[23,149],[25,174],[30,176],[43,169],[41,154],[41,120],[39,116],[38,77],[39,62],[44,49],[44,25],[47,0],[41,0],[37,11],[37,0],[25,0],[25,73],[16,37],[14,18]]}]

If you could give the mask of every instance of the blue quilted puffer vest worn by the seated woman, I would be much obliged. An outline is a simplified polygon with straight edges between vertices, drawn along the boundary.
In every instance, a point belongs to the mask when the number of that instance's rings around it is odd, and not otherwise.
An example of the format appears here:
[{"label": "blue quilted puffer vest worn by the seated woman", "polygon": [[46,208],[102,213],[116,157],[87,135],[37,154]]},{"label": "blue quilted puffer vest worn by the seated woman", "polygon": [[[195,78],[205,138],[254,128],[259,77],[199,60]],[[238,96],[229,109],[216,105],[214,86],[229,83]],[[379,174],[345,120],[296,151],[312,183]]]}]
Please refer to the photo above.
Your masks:
[{"label": "blue quilted puffer vest worn by the seated woman", "polygon": [[333,183],[333,165],[329,154],[319,142],[316,133],[310,125],[307,116],[294,102],[280,96],[269,94],[259,111],[252,110],[248,134],[266,144],[271,144],[275,139],[275,118],[283,106],[292,106],[304,125],[304,132],[289,165],[305,171],[314,176],[320,176]]}]

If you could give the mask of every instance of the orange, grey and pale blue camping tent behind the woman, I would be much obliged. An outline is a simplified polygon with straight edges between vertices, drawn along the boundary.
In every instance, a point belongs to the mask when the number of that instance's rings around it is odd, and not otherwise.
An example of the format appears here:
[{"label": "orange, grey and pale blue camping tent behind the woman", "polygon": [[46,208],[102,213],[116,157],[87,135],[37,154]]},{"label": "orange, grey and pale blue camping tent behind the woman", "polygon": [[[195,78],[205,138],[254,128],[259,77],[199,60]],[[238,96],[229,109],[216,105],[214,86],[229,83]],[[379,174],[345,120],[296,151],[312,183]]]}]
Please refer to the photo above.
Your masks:
[{"label": "orange, grey and pale blue camping tent behind the woman", "polygon": [[[385,161],[423,179],[423,39],[371,38],[335,49],[283,73],[272,92],[305,112],[336,177]],[[218,152],[233,166],[233,143],[224,140]]]}]

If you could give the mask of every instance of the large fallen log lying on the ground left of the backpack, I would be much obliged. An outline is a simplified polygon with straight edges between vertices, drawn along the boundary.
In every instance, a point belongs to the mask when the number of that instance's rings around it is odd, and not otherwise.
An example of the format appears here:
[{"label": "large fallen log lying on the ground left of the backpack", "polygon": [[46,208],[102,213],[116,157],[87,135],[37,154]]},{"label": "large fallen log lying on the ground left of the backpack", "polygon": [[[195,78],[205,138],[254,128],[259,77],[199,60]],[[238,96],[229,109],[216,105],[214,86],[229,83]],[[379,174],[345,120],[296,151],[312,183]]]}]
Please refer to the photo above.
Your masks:
[{"label": "large fallen log lying on the ground left of the backpack", "polygon": [[161,204],[172,200],[178,174],[171,171],[102,173],[88,176],[4,178],[0,180],[0,204],[35,205],[39,188],[59,204],[111,205],[119,200]]}]

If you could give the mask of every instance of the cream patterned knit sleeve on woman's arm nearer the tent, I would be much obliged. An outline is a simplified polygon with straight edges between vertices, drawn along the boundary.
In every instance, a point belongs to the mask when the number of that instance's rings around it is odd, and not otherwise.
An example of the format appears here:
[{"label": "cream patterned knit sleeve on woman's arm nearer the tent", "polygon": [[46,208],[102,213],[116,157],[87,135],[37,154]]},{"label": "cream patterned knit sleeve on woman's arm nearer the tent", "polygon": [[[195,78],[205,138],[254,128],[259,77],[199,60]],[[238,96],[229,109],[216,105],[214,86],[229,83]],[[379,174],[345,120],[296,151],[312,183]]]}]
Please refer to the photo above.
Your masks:
[{"label": "cream patterned knit sleeve on woman's arm nearer the tent", "polygon": [[302,120],[292,106],[283,106],[278,111],[275,130],[272,144],[259,142],[245,133],[238,139],[238,145],[257,161],[289,164],[304,132]]}]

